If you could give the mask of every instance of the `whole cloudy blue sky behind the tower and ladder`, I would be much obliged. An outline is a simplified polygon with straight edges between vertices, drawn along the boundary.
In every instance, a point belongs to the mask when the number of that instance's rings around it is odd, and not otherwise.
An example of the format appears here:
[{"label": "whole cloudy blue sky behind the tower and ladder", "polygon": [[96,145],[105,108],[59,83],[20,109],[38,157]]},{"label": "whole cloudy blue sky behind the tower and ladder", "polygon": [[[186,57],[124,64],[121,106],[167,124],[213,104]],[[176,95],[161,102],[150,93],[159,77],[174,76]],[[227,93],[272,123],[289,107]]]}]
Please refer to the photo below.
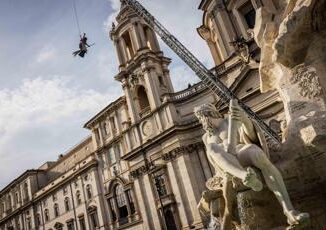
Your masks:
[{"label": "whole cloudy blue sky behind the tower and ladder", "polygon": [[[114,81],[117,58],[108,26],[119,0],[75,0],[81,30],[95,42],[85,59],[73,58],[78,29],[72,0],[0,1],[0,188],[78,143],[83,124],[122,95]],[[196,33],[200,0],[141,0],[200,60],[212,66]],[[197,78],[172,51],[176,90]]]}]

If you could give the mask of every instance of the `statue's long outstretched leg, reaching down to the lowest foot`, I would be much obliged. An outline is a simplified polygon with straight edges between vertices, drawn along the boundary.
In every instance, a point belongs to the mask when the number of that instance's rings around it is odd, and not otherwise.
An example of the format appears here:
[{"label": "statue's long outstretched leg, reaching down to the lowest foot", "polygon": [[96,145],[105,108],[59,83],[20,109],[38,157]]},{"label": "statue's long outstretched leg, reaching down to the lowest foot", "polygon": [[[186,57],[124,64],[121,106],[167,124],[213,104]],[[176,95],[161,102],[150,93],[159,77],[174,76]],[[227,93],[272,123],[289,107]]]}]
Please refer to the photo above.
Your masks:
[{"label": "statue's long outstretched leg, reaching down to the lowest foot", "polygon": [[[294,210],[280,171],[267,158],[261,148],[256,145],[247,145],[240,150],[239,159],[240,162],[248,163],[251,161],[253,166],[261,170],[268,188],[280,202],[289,224],[298,224],[301,220],[309,218],[308,214]],[[249,165],[251,164],[249,163]]]}]

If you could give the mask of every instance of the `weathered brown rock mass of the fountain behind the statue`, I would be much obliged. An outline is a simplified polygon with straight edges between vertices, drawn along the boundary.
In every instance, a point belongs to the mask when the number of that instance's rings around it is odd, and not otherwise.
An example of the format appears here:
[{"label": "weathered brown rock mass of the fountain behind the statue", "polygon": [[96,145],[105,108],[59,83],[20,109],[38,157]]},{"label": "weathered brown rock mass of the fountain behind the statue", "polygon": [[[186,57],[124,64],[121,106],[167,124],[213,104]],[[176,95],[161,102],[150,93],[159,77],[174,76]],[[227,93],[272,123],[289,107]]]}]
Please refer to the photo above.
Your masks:
[{"label": "weathered brown rock mass of the fountain behind the statue", "polygon": [[277,89],[284,103],[282,149],[271,153],[294,206],[326,226],[326,1],[280,0],[257,11],[261,90]]}]

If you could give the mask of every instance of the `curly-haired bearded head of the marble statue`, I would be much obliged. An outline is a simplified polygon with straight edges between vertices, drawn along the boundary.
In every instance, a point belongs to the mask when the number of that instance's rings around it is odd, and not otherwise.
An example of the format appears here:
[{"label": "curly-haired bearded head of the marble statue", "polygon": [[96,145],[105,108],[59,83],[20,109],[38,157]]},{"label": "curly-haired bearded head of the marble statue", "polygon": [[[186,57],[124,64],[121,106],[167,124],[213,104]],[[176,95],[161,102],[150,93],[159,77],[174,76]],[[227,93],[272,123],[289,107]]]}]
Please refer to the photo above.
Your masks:
[{"label": "curly-haired bearded head of the marble statue", "polygon": [[203,104],[194,108],[195,116],[199,122],[203,125],[203,129],[212,134],[214,127],[216,126],[216,120],[223,119],[223,116],[212,104]]}]

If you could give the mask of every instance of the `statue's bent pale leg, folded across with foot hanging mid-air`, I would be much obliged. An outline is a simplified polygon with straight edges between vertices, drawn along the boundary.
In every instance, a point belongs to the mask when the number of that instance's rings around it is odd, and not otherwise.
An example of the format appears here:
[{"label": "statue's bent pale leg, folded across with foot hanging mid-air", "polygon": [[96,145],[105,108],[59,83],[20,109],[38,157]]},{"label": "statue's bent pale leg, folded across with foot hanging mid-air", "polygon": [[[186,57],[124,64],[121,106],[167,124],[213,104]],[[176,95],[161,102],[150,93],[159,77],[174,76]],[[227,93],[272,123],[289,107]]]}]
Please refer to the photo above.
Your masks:
[{"label": "statue's bent pale leg, folded across with foot hanging mid-air", "polygon": [[260,191],[262,189],[262,183],[258,179],[254,170],[250,167],[247,169],[243,168],[236,156],[227,153],[217,144],[209,144],[206,148],[207,154],[211,156],[214,164],[216,164],[224,173],[228,173],[231,176],[241,179],[244,185],[255,191]]}]

